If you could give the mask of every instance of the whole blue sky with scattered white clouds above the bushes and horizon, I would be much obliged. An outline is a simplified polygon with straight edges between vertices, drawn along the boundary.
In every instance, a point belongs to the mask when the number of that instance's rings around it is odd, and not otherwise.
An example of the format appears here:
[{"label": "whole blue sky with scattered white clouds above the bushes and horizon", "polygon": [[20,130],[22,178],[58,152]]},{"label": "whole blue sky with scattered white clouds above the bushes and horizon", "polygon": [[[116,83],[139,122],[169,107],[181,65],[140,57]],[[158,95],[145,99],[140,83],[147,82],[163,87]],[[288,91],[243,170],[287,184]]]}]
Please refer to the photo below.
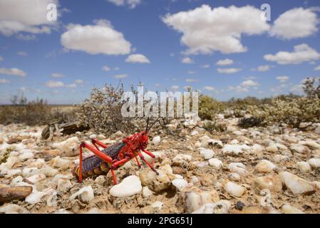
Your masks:
[{"label": "whole blue sky with scattered white clouds above the bushes and horizon", "polygon": [[[45,19],[49,3],[58,6],[55,23]],[[271,21],[260,18],[264,3]],[[317,0],[0,0],[0,103],[21,93],[79,103],[93,86],[120,79],[126,88],[142,81],[153,91],[191,86],[218,100],[301,93],[304,78],[320,76],[319,6]]]}]

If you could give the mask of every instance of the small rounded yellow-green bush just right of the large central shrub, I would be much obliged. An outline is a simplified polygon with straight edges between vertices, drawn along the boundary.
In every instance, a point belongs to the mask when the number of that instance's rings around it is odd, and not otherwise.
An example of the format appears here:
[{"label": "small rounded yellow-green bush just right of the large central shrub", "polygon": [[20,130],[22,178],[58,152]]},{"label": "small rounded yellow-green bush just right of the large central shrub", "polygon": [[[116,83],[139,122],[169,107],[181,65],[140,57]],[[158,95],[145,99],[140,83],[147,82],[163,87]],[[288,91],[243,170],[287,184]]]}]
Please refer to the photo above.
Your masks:
[{"label": "small rounded yellow-green bush just right of the large central shrub", "polygon": [[224,105],[208,95],[199,97],[199,117],[202,120],[214,120],[215,114],[224,110]]}]

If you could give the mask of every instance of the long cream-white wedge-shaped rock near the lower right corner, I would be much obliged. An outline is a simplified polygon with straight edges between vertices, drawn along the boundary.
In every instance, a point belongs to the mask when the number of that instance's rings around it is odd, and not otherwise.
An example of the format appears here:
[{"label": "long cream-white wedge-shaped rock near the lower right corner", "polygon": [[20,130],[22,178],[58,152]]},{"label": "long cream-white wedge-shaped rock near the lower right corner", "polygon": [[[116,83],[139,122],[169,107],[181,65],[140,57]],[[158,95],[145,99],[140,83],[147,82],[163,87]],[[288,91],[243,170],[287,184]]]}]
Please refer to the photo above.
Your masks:
[{"label": "long cream-white wedge-shaped rock near the lower right corner", "polygon": [[290,172],[280,172],[282,183],[294,194],[311,193],[316,190],[312,182],[306,181]]}]

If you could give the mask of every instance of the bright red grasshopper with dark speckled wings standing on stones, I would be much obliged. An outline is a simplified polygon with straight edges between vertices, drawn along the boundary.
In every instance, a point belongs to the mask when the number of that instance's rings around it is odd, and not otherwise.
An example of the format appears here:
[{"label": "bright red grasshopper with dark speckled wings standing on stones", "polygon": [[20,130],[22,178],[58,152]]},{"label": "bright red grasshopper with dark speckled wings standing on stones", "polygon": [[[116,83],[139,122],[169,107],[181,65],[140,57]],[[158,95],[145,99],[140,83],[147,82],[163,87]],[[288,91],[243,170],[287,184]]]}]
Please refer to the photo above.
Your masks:
[{"label": "bright red grasshopper with dark speckled wings standing on stones", "polygon": [[[157,119],[158,120],[158,119]],[[157,121],[155,120],[155,122]],[[155,122],[150,126],[150,128],[155,124]],[[140,168],[140,162],[138,161],[138,157],[143,160],[151,170],[157,173],[153,167],[155,165],[155,155],[145,148],[148,146],[148,123],[147,128],[140,133],[135,133],[125,139],[122,142],[118,142],[113,145],[105,145],[102,142],[92,139],[91,142],[94,145],[89,145],[86,142],[81,142],[80,145],[80,162],[78,167],[74,167],[73,175],[78,177],[78,181],[82,182],[83,178],[91,177],[94,175],[107,175],[109,170],[113,175],[113,183],[117,185],[117,179],[115,177],[114,170],[117,170],[118,167],[125,165],[126,162],[130,161],[135,157],[135,160],[138,163],[138,167]],[[98,146],[103,147],[103,150],[99,150]],[[82,149],[86,147],[88,150],[91,150],[95,155],[90,157],[86,157],[82,160]],[[145,157],[143,157],[141,151],[145,152],[150,157],[153,157],[153,164],[151,165]]]}]

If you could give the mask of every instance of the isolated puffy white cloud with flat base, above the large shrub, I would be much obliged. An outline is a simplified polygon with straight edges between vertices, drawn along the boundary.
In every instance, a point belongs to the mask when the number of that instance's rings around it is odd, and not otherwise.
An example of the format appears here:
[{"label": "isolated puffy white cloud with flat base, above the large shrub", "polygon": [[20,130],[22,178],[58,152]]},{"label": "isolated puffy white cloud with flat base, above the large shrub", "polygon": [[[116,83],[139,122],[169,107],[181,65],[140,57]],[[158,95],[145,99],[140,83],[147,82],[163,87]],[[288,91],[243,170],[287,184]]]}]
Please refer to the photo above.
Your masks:
[{"label": "isolated puffy white cloud with flat base, above the large shrub", "polygon": [[91,55],[125,55],[130,53],[130,42],[123,33],[115,31],[109,21],[96,20],[93,25],[69,24],[61,35],[63,47],[85,51]]}]

